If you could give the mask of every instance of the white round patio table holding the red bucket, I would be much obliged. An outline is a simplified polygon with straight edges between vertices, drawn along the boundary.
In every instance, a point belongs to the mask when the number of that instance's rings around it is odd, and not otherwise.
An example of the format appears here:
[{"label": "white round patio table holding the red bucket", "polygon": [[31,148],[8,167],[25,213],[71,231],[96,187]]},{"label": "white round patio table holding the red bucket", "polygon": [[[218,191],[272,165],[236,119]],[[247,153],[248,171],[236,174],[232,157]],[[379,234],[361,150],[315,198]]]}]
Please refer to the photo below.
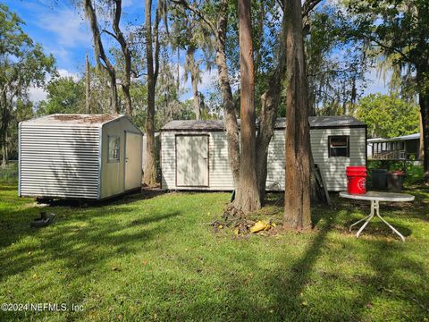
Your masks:
[{"label": "white round patio table holding the red bucket", "polygon": [[363,219],[358,220],[355,224],[350,225],[349,231],[351,232],[351,227],[357,225],[363,221],[365,221],[364,225],[362,225],[356,233],[356,237],[359,237],[359,234],[365,229],[366,225],[373,219],[374,216],[378,216],[384,224],[388,225],[393,233],[397,233],[400,236],[402,242],[405,242],[405,237],[402,236],[400,232],[398,232],[395,227],[389,224],[384,220],[382,216],[380,216],[380,201],[388,201],[388,202],[405,202],[405,201],[413,201],[415,199],[414,196],[405,194],[405,193],[393,193],[393,192],[379,192],[379,191],[367,191],[365,194],[350,194],[347,191],[340,192],[341,198],[348,199],[357,199],[357,200],[369,200],[371,201],[371,214],[366,216]]}]

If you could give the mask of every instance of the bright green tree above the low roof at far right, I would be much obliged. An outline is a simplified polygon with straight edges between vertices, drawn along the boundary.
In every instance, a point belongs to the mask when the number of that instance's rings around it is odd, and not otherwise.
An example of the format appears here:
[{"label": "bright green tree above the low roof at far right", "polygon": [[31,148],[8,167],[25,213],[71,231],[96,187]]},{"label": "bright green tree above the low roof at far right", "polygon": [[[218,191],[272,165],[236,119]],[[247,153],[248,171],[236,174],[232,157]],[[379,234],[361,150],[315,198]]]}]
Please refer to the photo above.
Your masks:
[{"label": "bright green tree above the low roof at far right", "polygon": [[392,138],[418,131],[418,106],[396,95],[371,94],[357,103],[357,118],[372,138]]}]

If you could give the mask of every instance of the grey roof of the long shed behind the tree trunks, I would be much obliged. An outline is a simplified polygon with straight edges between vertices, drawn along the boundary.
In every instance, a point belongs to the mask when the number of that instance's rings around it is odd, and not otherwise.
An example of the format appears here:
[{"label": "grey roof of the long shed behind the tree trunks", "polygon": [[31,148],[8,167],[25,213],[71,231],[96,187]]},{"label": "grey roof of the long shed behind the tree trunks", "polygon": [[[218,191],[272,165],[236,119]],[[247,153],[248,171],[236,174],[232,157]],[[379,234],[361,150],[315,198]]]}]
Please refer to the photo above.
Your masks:
[{"label": "grey roof of the long shed behind the tree trunks", "polygon": [[[365,126],[352,116],[310,116],[308,122],[311,128]],[[239,120],[240,126],[240,120]],[[286,126],[286,118],[279,117],[275,122],[275,129],[281,130]],[[223,131],[223,120],[178,120],[164,125],[161,131]]]}]

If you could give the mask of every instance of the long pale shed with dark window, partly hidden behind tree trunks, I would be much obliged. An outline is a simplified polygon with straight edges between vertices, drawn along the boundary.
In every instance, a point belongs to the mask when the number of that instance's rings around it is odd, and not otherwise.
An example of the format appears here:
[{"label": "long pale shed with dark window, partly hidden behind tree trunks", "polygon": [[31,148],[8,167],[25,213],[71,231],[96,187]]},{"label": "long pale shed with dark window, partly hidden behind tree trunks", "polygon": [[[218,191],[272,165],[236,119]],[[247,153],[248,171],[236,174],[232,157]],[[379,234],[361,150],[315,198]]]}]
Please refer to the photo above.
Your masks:
[{"label": "long pale shed with dark window, partly hidden behind tree trunks", "polygon": [[[329,191],[347,187],[345,168],[366,165],[366,124],[351,116],[309,117],[311,148]],[[283,191],[285,119],[277,120],[268,149],[267,191]],[[164,190],[231,191],[233,182],[222,120],[172,121],[161,130]]]}]

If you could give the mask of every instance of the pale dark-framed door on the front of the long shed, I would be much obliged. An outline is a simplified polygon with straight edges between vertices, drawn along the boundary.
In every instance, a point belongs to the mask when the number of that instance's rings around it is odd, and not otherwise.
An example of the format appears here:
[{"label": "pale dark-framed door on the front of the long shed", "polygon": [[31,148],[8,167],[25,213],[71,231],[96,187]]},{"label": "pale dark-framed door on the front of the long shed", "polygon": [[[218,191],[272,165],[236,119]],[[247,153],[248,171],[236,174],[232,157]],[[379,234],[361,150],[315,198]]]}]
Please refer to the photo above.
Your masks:
[{"label": "pale dark-framed door on the front of the long shed", "polygon": [[208,187],[208,135],[176,136],[176,185]]}]

